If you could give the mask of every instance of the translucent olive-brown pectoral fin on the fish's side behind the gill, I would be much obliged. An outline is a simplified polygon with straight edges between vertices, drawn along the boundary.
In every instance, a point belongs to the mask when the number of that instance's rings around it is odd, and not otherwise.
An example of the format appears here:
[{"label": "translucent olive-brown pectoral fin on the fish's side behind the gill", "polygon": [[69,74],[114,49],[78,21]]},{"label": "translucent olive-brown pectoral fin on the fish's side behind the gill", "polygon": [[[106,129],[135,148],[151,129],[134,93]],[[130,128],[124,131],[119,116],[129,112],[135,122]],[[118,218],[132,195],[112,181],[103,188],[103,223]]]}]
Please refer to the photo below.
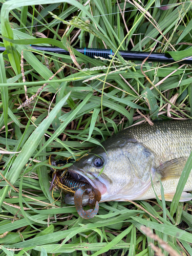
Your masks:
[{"label": "translucent olive-brown pectoral fin on the fish's side behind the gill", "polygon": [[175,158],[161,164],[157,169],[157,173],[160,174],[161,180],[180,178],[185,163],[186,157]]}]

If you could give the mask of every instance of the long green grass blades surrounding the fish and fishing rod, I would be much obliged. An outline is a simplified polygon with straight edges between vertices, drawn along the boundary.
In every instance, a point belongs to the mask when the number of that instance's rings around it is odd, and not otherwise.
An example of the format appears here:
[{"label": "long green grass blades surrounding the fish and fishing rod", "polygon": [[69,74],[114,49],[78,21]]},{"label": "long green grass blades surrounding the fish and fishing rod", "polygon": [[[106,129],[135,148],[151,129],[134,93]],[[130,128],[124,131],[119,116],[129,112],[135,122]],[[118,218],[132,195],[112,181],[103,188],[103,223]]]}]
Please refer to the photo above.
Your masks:
[{"label": "long green grass blades surrounding the fish and fishing rod", "polygon": [[[132,124],[192,117],[190,65],[145,61],[141,68],[141,61],[118,55],[154,48],[176,61],[190,56],[191,2],[86,2],[0,4],[0,46],[6,47],[0,54],[0,256],[192,255],[192,202],[179,202],[191,156],[172,203],[162,188],[162,201],[100,203],[99,215],[84,220],[50,194],[51,154],[76,159]],[[30,44],[71,55],[34,54]],[[91,59],[74,49],[83,47],[107,47],[117,55]],[[25,84],[30,98],[46,82],[30,105],[17,109],[26,100]]]}]

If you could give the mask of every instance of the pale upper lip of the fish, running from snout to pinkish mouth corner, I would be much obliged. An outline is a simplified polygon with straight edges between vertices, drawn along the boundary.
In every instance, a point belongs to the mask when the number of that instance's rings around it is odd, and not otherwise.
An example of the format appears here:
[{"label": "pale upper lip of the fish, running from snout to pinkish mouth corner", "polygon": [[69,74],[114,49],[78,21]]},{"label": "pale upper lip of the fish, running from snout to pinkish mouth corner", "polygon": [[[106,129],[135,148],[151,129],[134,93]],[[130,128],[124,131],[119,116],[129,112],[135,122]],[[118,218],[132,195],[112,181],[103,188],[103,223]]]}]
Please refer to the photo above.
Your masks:
[{"label": "pale upper lip of the fish, running from snout to pinkish mouth corner", "polygon": [[[87,182],[91,185],[91,186],[93,186],[94,188],[96,188],[97,190],[99,190],[99,192],[101,193],[101,195],[104,195],[105,193],[106,193],[106,186],[105,186],[105,184],[104,183],[102,183],[101,181],[98,181],[97,180],[97,182],[98,182],[98,186],[96,186],[94,183],[93,183],[93,181],[92,181],[92,179],[90,179],[88,176],[86,176],[85,174],[83,174],[82,172],[83,172],[83,170],[82,169],[79,169],[78,167],[74,167],[73,165],[72,166],[70,166],[69,168],[68,168],[68,172],[69,173],[76,173],[76,174],[79,174],[80,176],[82,176],[82,177],[84,177],[86,180],[87,180]],[[92,174],[88,174],[89,176],[92,176],[94,179],[96,178],[95,176],[93,176]]]}]

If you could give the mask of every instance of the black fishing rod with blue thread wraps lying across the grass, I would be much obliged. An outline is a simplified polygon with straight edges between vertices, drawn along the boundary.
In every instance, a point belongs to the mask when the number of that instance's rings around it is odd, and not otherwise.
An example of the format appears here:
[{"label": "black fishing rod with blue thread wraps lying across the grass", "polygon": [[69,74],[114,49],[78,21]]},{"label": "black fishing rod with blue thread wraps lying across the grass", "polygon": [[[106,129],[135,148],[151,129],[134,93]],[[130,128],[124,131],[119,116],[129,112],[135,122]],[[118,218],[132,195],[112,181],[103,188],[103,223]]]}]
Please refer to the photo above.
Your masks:
[{"label": "black fishing rod with blue thread wraps lying across the grass", "polygon": [[[51,47],[51,46],[31,46],[32,49],[34,50],[39,50],[39,51],[46,51],[50,53],[60,53],[60,54],[66,54],[70,55],[70,53],[66,50],[63,50],[58,47]],[[6,50],[5,47],[0,47],[0,52],[4,52]],[[114,52],[111,49],[96,49],[96,48],[76,48],[76,51],[90,57],[94,58],[94,56],[97,57],[102,57],[102,58],[108,58],[109,55],[114,55]],[[143,61],[147,57],[147,61],[155,61],[155,62],[166,62],[166,63],[173,63],[175,60],[168,54],[168,53],[149,53],[149,52],[136,52],[136,51],[119,51],[118,52],[122,58],[125,60],[139,60]],[[148,56],[150,54],[150,56]],[[192,57],[188,59],[183,59],[179,61],[179,63],[183,64],[192,64]]]}]

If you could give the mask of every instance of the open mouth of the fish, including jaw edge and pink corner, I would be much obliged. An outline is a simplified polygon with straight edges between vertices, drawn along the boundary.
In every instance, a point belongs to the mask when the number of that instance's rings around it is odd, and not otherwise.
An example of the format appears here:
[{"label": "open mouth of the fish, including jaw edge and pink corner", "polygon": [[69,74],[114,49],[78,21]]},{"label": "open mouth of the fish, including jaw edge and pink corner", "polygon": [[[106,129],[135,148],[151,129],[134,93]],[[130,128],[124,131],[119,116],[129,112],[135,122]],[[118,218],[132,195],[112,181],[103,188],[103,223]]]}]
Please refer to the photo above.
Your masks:
[{"label": "open mouth of the fish, including jaw edge and pink corner", "polygon": [[[87,182],[89,185],[92,187],[96,188],[99,190],[101,195],[104,195],[106,193],[106,186],[104,183],[99,181],[97,179],[97,176],[95,177],[93,174],[87,173],[83,174],[83,170],[74,167],[73,165],[68,168],[68,172],[71,175],[71,177],[77,181],[84,181]],[[89,176],[89,177],[88,177]],[[94,181],[94,182],[93,182]]]}]

